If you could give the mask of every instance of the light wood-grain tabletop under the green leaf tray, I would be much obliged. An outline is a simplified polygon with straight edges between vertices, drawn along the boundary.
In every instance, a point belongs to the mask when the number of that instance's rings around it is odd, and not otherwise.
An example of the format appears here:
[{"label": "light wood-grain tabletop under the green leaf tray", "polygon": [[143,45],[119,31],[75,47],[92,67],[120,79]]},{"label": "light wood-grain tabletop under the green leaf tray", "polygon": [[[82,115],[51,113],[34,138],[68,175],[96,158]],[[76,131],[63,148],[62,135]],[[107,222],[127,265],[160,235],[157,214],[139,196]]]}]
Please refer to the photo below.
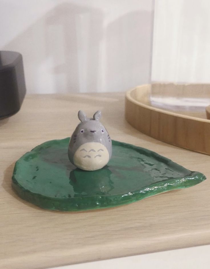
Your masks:
[{"label": "light wood-grain tabletop under the green leaf tray", "polygon": [[[15,161],[45,142],[70,136],[77,111],[102,111],[114,140],[153,150],[189,170],[199,185],[116,208],[54,212],[11,189]],[[28,95],[21,110],[0,121],[0,268],[49,268],[210,243],[210,156],[150,138],[124,119],[124,93]]]}]

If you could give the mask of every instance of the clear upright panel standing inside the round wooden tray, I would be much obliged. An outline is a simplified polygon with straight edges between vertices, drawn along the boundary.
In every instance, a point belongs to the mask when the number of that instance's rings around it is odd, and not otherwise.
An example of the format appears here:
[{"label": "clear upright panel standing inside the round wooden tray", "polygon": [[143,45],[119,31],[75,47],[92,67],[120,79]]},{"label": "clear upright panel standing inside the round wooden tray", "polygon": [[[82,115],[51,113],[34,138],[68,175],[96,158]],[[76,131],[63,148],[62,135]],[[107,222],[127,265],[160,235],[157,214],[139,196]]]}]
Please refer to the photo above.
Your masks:
[{"label": "clear upright panel standing inside the round wooden tray", "polygon": [[152,105],[205,116],[210,105],[209,8],[208,0],[155,2]]}]

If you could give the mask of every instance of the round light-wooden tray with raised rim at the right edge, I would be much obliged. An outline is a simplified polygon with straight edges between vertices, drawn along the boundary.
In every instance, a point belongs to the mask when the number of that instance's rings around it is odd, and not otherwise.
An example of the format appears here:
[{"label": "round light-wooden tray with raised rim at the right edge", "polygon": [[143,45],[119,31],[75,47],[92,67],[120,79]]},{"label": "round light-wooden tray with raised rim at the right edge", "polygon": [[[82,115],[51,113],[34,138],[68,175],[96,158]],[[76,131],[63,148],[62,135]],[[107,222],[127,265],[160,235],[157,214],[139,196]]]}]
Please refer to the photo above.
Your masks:
[{"label": "round light-wooden tray with raised rim at the right edge", "polygon": [[205,107],[157,107],[152,96],[179,96],[209,100],[210,85],[141,85],[126,93],[126,120],[142,133],[163,142],[210,155],[210,120]]}]

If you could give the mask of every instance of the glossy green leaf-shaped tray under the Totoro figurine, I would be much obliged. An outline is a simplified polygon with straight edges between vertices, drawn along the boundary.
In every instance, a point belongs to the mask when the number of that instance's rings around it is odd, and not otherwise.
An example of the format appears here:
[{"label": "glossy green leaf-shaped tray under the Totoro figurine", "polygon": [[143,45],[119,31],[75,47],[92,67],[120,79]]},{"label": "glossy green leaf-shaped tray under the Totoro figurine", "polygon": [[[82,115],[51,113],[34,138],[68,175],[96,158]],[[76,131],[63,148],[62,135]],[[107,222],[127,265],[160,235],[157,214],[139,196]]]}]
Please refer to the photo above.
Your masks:
[{"label": "glossy green leaf-shaped tray under the Totoro figurine", "polygon": [[47,141],[15,164],[12,186],[41,208],[101,209],[196,185],[206,177],[145,148],[112,141],[112,158],[97,171],[83,171],[68,160],[69,138]]}]

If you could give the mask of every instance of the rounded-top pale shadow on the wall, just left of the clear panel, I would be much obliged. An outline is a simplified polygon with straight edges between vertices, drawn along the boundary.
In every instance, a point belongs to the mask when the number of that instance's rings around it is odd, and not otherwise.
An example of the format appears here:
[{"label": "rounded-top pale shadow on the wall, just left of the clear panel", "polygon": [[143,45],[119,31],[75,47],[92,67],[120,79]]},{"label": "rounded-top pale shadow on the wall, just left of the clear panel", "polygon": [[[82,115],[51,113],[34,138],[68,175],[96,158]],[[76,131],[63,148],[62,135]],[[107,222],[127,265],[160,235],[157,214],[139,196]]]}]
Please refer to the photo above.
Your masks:
[{"label": "rounded-top pale shadow on the wall, just left of the clear panel", "polygon": [[150,82],[152,55],[150,12],[135,11],[113,21],[107,27],[106,40],[108,90],[124,91]]}]

